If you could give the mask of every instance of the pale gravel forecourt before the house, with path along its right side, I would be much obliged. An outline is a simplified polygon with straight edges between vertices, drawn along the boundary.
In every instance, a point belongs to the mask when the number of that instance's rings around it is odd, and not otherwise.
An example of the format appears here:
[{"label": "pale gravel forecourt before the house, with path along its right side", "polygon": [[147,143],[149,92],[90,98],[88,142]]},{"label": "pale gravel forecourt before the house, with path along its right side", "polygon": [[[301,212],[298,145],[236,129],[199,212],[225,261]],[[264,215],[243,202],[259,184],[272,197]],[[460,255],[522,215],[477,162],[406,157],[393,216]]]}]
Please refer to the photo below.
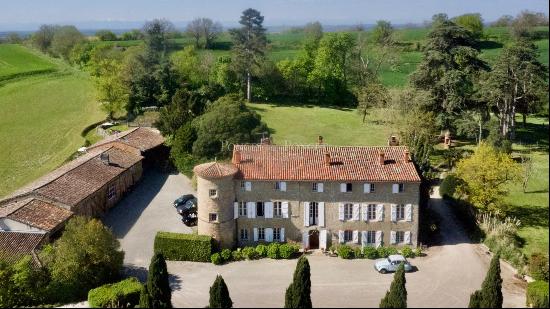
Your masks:
[{"label": "pale gravel forecourt before the house, with path along its right side", "polygon": [[[411,259],[418,271],[408,273],[409,307],[467,307],[470,294],[481,287],[490,256],[469,243],[452,212],[439,198],[432,207],[441,216],[443,245],[428,255]],[[371,260],[342,260],[321,254],[309,256],[314,307],[378,307],[393,275],[381,275]],[[168,262],[172,302],[176,307],[204,307],[217,274],[223,275],[234,307],[281,307],[292,280],[296,260],[242,261],[215,266],[209,263]],[[504,307],[525,307],[525,284],[501,264]]]}]

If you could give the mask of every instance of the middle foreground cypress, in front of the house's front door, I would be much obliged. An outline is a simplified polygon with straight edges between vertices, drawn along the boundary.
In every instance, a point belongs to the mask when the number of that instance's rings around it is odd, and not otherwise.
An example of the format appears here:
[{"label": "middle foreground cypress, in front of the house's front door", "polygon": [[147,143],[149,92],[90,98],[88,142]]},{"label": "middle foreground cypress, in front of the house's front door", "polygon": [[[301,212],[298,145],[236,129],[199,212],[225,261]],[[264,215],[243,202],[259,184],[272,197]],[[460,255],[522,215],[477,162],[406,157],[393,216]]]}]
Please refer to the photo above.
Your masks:
[{"label": "middle foreground cypress, in front of the house's front door", "polygon": [[305,256],[298,260],[294,279],[285,294],[285,308],[311,308],[311,272]]}]

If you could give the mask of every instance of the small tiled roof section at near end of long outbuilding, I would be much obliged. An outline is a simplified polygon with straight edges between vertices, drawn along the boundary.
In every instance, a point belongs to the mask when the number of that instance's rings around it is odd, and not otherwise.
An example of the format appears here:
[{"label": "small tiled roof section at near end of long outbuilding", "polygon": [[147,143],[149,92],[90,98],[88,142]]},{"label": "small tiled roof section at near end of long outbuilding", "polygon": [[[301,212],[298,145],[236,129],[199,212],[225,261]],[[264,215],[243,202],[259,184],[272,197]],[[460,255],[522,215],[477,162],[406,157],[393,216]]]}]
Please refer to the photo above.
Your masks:
[{"label": "small tiled roof section at near end of long outbuilding", "polygon": [[8,219],[19,221],[44,231],[51,231],[72,216],[72,211],[51,203],[32,199],[13,213]]}]

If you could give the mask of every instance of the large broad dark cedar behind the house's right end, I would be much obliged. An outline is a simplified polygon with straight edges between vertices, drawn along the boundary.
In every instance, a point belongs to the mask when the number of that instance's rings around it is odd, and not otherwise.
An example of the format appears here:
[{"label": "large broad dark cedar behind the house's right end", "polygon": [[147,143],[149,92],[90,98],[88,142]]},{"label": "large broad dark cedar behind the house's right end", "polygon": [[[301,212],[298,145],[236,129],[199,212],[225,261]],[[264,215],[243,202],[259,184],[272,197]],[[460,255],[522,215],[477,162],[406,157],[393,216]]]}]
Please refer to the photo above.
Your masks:
[{"label": "large broad dark cedar behind the house's right end", "polygon": [[487,64],[479,59],[477,41],[472,33],[449,20],[434,16],[424,57],[411,75],[411,85],[431,93],[426,111],[437,115],[440,129],[452,128],[453,121],[465,110],[478,105],[476,82]]}]

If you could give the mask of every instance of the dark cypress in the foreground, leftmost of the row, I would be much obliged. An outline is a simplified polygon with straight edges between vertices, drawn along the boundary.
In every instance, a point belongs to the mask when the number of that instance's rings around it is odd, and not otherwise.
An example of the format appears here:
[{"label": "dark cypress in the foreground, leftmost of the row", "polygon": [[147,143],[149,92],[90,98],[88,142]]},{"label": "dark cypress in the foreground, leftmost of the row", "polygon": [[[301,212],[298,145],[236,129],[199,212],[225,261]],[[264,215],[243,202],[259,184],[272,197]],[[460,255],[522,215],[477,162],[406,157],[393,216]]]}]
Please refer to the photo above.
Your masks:
[{"label": "dark cypress in the foreground, leftmost of the row", "polygon": [[168,282],[168,270],[161,253],[156,253],[151,259],[147,290],[150,295],[151,308],[172,308],[172,291]]}]

